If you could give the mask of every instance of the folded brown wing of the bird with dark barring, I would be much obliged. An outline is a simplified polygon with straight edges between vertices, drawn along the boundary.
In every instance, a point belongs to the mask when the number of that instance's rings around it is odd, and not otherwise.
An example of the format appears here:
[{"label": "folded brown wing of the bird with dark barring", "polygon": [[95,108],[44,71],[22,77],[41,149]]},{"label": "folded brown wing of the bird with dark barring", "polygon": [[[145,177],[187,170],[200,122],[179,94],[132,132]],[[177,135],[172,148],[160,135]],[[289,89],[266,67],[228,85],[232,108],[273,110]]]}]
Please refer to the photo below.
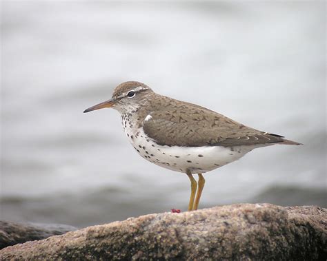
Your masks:
[{"label": "folded brown wing of the bird with dark barring", "polygon": [[151,118],[143,122],[144,132],[160,145],[170,146],[232,147],[284,142],[277,134],[260,132],[204,107],[184,104],[174,111],[150,112]]}]

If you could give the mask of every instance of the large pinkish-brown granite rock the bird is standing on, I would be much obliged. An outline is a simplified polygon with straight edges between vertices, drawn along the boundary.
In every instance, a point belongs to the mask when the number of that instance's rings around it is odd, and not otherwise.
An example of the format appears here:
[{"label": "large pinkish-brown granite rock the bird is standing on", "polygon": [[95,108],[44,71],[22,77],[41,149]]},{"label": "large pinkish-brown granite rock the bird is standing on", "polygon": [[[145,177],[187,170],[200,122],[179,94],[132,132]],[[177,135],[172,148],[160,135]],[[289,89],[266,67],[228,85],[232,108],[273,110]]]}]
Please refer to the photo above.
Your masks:
[{"label": "large pinkish-brown granite rock the bird is standing on", "polygon": [[0,251],[1,260],[326,260],[327,209],[240,204],[158,213]]}]

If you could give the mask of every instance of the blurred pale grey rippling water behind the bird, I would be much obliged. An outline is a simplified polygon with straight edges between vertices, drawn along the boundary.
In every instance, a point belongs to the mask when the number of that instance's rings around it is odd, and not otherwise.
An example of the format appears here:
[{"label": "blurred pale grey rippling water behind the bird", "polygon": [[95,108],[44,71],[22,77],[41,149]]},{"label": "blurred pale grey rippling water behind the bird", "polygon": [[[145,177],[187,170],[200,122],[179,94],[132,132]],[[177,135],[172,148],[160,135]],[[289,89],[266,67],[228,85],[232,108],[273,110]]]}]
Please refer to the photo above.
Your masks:
[{"label": "blurred pale grey rippling water behind the bird", "polygon": [[82,113],[130,80],[304,143],[206,174],[201,207],[327,207],[324,5],[3,1],[1,219],[186,210],[186,175],[137,155],[114,110]]}]

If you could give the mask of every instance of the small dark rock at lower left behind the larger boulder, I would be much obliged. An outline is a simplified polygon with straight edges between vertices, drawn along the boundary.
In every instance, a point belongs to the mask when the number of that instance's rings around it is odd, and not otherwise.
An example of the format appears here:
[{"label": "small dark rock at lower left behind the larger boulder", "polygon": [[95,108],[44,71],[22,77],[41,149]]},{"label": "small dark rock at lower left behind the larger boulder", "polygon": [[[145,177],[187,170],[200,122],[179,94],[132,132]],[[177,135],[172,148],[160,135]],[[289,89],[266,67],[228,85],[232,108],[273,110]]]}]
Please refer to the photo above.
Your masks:
[{"label": "small dark rock at lower left behind the larger boulder", "polygon": [[61,224],[48,225],[0,221],[0,249],[26,241],[61,235],[74,230],[77,230],[77,228]]}]

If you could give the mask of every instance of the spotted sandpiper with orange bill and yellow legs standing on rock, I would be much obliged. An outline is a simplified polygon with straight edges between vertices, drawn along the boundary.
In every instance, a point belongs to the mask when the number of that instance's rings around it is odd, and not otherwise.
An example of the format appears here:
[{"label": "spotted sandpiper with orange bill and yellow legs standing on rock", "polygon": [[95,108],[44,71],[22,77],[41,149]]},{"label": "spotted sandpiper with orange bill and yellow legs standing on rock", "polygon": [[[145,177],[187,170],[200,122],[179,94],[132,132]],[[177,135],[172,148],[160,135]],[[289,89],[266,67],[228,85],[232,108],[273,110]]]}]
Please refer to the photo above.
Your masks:
[{"label": "spotted sandpiper with orange bill and yellow legs standing on rock", "polygon": [[[137,81],[121,83],[110,100],[84,112],[105,107],[120,112],[126,136],[139,155],[188,175],[188,210],[199,206],[205,172],[238,160],[258,147],[301,145],[278,134],[252,129],[205,107],[156,94]],[[198,182],[193,174],[199,176]]]}]

